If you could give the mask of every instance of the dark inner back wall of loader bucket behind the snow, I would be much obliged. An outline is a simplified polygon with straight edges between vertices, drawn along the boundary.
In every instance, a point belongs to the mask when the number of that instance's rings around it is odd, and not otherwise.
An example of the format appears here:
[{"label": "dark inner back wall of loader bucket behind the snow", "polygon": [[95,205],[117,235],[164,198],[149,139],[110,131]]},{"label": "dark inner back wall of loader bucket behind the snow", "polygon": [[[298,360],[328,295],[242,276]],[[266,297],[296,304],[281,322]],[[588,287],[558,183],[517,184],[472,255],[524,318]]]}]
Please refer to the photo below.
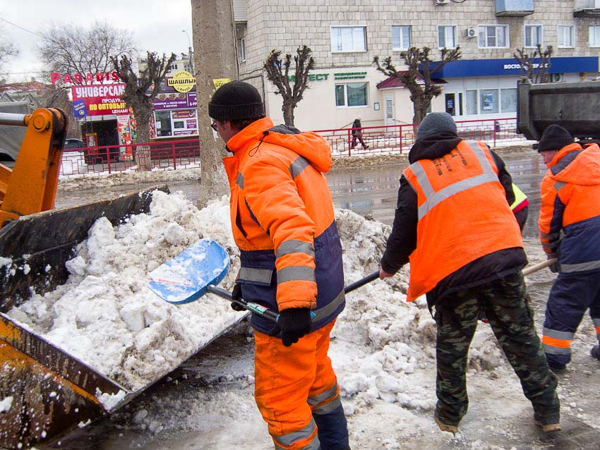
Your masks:
[{"label": "dark inner back wall of loader bucket behind the snow", "polygon": [[116,225],[132,214],[148,212],[152,191],[157,189],[169,192],[167,186],[157,186],[114,200],[29,214],[4,226],[0,230],[0,312],[20,305],[32,291],[45,293],[64,284],[65,262],[88,237],[92,224],[107,217]]}]

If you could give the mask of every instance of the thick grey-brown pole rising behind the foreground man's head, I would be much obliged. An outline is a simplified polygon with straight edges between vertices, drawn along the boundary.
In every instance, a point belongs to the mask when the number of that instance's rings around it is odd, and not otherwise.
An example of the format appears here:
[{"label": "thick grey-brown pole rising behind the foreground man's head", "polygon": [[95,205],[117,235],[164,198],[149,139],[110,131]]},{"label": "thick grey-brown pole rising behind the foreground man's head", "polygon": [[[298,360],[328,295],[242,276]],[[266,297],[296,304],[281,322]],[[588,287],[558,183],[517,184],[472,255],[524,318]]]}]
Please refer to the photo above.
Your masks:
[{"label": "thick grey-brown pole rising behind the foreground man's head", "polygon": [[237,80],[238,66],[232,1],[191,0],[191,6],[200,138],[198,207],[204,207],[208,200],[229,192],[221,161],[224,142],[213,133],[208,116],[208,102],[216,90],[213,80]]}]

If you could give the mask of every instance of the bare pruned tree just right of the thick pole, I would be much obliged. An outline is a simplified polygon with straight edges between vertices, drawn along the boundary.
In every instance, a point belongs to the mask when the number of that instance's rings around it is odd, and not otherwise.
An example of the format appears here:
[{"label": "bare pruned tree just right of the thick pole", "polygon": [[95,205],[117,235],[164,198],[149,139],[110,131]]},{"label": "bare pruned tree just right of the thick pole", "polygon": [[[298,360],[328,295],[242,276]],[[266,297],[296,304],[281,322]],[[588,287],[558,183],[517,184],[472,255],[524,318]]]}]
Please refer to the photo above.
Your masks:
[{"label": "bare pruned tree just right of the thick pole", "polygon": [[313,51],[306,45],[301,45],[296,49],[296,56],[294,56],[296,71],[292,83],[289,79],[289,67],[292,65],[291,54],[286,54],[282,61],[281,50],[271,50],[263,65],[267,71],[268,80],[277,87],[275,94],[281,95],[283,98],[281,110],[286,125],[294,125],[294,108],[308,87],[308,73],[315,68],[312,53]]}]

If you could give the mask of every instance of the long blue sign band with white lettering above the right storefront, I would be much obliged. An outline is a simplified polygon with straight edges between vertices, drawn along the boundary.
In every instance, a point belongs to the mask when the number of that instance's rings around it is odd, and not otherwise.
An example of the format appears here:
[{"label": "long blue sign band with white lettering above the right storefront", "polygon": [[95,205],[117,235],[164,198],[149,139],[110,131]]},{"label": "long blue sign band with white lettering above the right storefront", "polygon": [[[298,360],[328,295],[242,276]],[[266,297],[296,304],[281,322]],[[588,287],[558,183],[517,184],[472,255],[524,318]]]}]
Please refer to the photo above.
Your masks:
[{"label": "long blue sign band with white lettering above the right storefront", "polygon": [[[600,72],[599,56],[577,56],[551,58],[550,73]],[[431,63],[431,70],[440,61]],[[539,59],[534,59],[539,63]],[[433,74],[436,78],[484,77],[496,75],[521,75],[520,64],[516,59],[459,59],[447,63]]]}]

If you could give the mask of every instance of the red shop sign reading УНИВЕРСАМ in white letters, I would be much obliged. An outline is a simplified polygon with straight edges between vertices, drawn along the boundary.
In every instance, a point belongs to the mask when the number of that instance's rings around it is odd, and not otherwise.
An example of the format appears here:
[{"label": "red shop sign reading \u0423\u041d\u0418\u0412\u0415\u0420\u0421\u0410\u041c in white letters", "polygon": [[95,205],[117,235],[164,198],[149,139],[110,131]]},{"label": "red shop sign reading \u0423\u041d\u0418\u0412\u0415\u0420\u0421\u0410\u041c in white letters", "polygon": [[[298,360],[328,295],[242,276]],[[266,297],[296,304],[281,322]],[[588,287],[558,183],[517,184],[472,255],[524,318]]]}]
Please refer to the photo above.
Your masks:
[{"label": "red shop sign reading \u0423\u041d\u0418\u0412\u0415\u0420\u0421\u0410\u041c in white letters", "polygon": [[73,116],[128,114],[125,102],[121,99],[124,91],[125,83],[72,86]]}]

